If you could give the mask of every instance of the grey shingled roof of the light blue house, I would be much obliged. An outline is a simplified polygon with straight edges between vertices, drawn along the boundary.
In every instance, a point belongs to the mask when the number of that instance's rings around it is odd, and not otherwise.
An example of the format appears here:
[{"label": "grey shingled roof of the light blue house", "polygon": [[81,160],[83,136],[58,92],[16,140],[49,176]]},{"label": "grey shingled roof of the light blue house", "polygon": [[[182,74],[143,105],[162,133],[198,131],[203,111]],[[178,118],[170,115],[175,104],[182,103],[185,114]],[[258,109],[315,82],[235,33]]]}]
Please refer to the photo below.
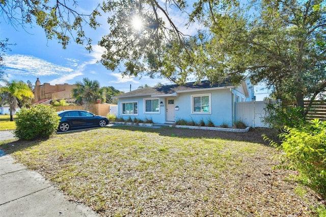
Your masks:
[{"label": "grey shingled roof of the light blue house", "polygon": [[124,98],[131,96],[176,96],[178,93],[184,92],[194,92],[194,91],[203,91],[203,90],[211,90],[211,89],[224,89],[234,87],[234,85],[229,81],[223,83],[215,83],[211,84],[209,80],[203,80],[201,83],[195,84],[195,82],[186,83],[184,85],[165,85],[156,88],[140,88],[134,91],[130,91],[116,98]]}]

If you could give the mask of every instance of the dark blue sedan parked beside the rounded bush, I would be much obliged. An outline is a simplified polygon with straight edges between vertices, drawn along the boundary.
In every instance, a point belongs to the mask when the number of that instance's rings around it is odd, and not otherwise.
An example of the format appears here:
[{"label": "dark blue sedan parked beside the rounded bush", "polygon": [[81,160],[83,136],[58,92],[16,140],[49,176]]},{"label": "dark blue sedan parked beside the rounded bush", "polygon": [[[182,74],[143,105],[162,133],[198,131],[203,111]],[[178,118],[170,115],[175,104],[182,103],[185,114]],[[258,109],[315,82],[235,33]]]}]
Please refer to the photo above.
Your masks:
[{"label": "dark blue sedan parked beside the rounded bush", "polygon": [[82,110],[60,111],[57,114],[61,117],[58,130],[61,132],[75,128],[104,127],[108,119],[103,116],[94,115]]}]

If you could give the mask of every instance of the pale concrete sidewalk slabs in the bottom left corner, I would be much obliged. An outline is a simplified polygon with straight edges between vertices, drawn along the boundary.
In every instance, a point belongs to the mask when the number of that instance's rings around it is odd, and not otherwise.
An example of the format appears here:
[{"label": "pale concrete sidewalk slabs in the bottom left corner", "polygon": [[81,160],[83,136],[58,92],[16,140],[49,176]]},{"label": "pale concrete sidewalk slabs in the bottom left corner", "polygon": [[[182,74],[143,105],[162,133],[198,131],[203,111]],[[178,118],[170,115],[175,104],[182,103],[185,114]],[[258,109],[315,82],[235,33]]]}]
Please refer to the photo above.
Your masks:
[{"label": "pale concrete sidewalk slabs in the bottom left corner", "polygon": [[0,156],[0,191],[0,216],[98,216],[9,155]]}]

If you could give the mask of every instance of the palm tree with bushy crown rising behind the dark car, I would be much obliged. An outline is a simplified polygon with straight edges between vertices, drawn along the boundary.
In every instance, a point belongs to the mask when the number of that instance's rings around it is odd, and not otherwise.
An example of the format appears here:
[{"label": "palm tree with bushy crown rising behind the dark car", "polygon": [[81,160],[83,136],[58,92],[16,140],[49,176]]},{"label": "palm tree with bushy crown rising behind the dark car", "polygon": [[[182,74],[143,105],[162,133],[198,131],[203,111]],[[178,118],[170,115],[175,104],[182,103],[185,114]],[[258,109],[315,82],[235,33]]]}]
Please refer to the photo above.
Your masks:
[{"label": "palm tree with bushy crown rising behind the dark car", "polygon": [[102,100],[102,92],[100,84],[97,80],[90,80],[83,78],[83,82],[77,82],[76,88],[72,89],[72,96],[75,98],[75,102],[78,105],[94,104],[97,99]]}]

